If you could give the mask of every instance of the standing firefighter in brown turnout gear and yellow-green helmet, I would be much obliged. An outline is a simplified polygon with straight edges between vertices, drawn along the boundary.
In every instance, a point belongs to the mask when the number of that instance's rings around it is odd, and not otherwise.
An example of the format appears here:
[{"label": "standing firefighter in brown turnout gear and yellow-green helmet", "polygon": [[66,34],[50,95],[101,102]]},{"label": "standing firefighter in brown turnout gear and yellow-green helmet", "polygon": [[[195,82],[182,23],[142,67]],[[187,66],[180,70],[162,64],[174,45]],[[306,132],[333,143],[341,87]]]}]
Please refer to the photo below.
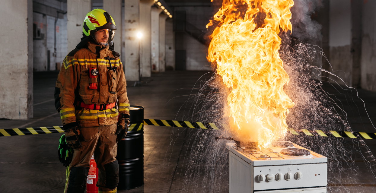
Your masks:
[{"label": "standing firefighter in brown turnout gear and yellow-green helmet", "polygon": [[56,81],[55,106],[65,140],[74,150],[65,193],[85,191],[92,154],[99,192],[117,192],[117,141],[126,136],[130,116],[123,65],[114,51],[115,30],[103,9],[86,14],[81,42],[65,57]]}]

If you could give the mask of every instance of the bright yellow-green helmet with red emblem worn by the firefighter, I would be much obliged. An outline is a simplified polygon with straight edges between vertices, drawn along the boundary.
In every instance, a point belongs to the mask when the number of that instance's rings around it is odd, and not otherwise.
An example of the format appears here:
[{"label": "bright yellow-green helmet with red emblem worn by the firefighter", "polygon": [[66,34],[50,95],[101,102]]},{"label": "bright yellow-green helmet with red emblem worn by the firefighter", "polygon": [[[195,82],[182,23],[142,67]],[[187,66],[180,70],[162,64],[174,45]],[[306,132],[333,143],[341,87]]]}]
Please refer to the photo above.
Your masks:
[{"label": "bright yellow-green helmet with red emblem worn by the firefighter", "polygon": [[99,29],[110,29],[108,44],[112,45],[114,30],[116,30],[114,19],[103,9],[93,9],[86,14],[82,25],[82,33],[84,36],[90,36]]}]

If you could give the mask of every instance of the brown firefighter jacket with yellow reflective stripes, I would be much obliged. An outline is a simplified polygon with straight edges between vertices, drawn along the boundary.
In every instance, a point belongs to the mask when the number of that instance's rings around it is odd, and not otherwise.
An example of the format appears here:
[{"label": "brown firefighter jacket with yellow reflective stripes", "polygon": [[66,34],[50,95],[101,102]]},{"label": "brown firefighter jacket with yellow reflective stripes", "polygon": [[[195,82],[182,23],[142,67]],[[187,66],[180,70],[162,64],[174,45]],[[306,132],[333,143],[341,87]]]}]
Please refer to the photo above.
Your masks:
[{"label": "brown firefighter jacket with yellow reflective stripes", "polygon": [[[77,122],[80,127],[111,125],[118,122],[119,113],[129,118],[123,64],[108,47],[102,47],[102,50],[97,47],[101,48],[89,42],[87,48],[70,53],[64,59],[55,88],[55,106],[63,125],[72,122]],[[97,80],[91,78],[91,81],[97,82],[97,89],[89,89],[90,67],[99,71]],[[100,111],[76,107],[75,101],[98,105],[117,101],[117,106]]]}]

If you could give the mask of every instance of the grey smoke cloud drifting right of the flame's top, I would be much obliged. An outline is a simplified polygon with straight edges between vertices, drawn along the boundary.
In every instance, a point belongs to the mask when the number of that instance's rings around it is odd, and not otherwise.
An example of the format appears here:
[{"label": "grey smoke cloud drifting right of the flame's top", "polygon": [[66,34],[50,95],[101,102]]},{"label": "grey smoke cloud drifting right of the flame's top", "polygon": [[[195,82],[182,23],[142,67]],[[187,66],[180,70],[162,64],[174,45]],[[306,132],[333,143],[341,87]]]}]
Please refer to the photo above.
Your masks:
[{"label": "grey smoke cloud drifting right of the flame's top", "polygon": [[303,42],[320,41],[321,25],[312,20],[312,14],[323,6],[323,0],[294,0],[290,9],[293,24],[292,36]]}]

